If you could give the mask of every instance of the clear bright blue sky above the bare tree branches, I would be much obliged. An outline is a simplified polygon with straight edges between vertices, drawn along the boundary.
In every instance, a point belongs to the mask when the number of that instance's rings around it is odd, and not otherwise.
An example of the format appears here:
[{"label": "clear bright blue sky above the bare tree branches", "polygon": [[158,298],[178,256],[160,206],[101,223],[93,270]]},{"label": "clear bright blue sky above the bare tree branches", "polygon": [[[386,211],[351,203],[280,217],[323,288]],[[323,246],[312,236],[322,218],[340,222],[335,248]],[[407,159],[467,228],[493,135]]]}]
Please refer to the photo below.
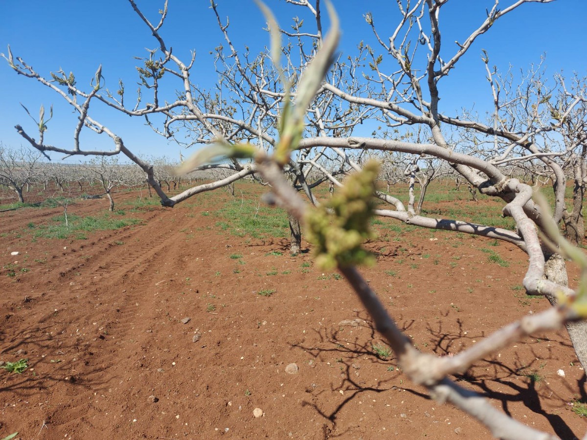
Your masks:
[{"label": "clear bright blue sky above the bare tree branches", "polygon": [[[230,17],[230,31],[237,49],[246,44],[254,50],[268,43],[268,35],[262,31],[265,20],[252,0],[216,2],[221,15]],[[503,0],[501,8],[512,2]],[[137,3],[153,21],[163,6],[163,1],[159,0],[139,0]],[[342,52],[352,53],[360,40],[378,50],[373,44],[370,26],[362,17],[365,12],[373,13],[384,39],[393,32],[392,28],[386,28],[386,23],[393,25],[397,22],[397,8],[392,1],[334,0],[333,3],[341,19]],[[285,5],[278,0],[266,0],[266,4],[274,10],[284,29],[289,29],[291,16],[299,15],[306,18],[304,30],[313,30],[311,19],[303,8]],[[490,9],[492,4],[486,0],[451,0],[443,8],[441,31],[446,50],[443,53],[453,53],[456,50],[454,40],[462,42],[483,21],[485,8]],[[490,53],[491,64],[504,71],[510,64],[517,70],[527,69],[546,53],[549,73],[563,70],[567,75],[573,71],[581,76],[587,75],[586,6],[585,0],[528,4],[500,19],[490,32],[475,42],[451,76],[440,84],[441,110],[450,114],[461,107],[474,105],[478,111],[487,109],[490,90],[480,59],[482,48]],[[216,76],[209,52],[225,42],[210,3],[207,0],[171,0],[169,9],[161,34],[174,53],[186,61],[190,49],[195,49],[197,57],[196,66],[191,71],[192,80],[200,86],[213,86]],[[2,12],[0,52],[6,53],[6,45],[10,44],[15,56],[22,56],[44,76],[60,67],[68,73],[73,71],[81,88],[87,84],[86,90],[101,63],[110,90],[116,90],[119,78],[123,79],[127,103],[131,102],[132,92],[137,88],[138,77],[134,68],[137,60],[133,56],[144,56],[145,48],[156,47],[156,40],[124,0],[8,1],[3,2]],[[4,60],[0,61],[0,141],[13,147],[26,144],[16,133],[15,124],[21,124],[33,137],[38,136],[33,121],[19,103],[28,107],[33,116],[38,115],[41,104],[47,110],[53,104],[54,116],[49,122],[45,143],[71,147],[77,115],[55,92],[35,80],[16,75]],[[123,116],[102,107],[94,104],[90,107],[90,114],[119,134],[131,150],[178,158],[180,148],[154,134],[144,126],[143,119]],[[85,133],[81,138],[82,149],[110,148],[112,145],[104,135]]]}]

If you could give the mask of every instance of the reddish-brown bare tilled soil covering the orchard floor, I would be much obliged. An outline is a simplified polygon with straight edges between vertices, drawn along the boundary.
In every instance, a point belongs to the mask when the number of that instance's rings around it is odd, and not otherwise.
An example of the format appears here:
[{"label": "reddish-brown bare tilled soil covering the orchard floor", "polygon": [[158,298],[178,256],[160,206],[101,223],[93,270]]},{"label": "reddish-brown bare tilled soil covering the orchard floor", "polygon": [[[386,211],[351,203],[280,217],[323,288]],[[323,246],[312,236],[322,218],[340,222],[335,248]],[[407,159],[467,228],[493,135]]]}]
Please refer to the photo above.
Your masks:
[{"label": "reddish-brown bare tilled soil covering the orchard floor", "polygon": [[[116,198],[126,209],[137,193]],[[425,397],[393,354],[373,354],[382,341],[371,321],[344,279],[313,267],[311,253],[291,257],[286,239],[219,228],[214,210],[229,198],[215,192],[191,206],[127,212],[142,224],[85,240],[31,240],[27,224],[49,222],[60,208],[0,214],[0,265],[15,272],[0,273],[0,361],[29,360],[20,375],[0,370],[0,438],[490,438]],[[69,212],[106,207],[77,201]],[[513,246],[423,229],[402,239],[369,243],[378,263],[362,270],[420,350],[449,356],[548,306],[519,290],[527,259]],[[275,293],[258,294],[266,290]],[[285,371],[291,363],[295,374]],[[572,439],[587,430],[569,405],[585,397],[584,377],[559,331],[520,341],[459,383]],[[254,418],[254,408],[264,415]]]}]

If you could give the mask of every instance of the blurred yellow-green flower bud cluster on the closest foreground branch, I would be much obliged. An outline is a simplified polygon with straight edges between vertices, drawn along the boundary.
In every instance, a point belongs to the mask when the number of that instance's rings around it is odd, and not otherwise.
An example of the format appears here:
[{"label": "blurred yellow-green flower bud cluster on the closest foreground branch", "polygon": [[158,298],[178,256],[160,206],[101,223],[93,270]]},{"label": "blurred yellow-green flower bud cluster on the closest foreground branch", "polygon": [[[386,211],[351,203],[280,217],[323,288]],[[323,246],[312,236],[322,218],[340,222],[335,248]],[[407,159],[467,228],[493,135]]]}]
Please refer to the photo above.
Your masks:
[{"label": "blurred yellow-green flower bud cluster on the closest foreground branch", "polygon": [[369,161],[332,199],[306,214],[306,233],[316,246],[316,264],[321,268],[375,263],[375,256],[361,245],[375,238],[370,219],[375,209],[373,181],[377,174],[379,163]]}]

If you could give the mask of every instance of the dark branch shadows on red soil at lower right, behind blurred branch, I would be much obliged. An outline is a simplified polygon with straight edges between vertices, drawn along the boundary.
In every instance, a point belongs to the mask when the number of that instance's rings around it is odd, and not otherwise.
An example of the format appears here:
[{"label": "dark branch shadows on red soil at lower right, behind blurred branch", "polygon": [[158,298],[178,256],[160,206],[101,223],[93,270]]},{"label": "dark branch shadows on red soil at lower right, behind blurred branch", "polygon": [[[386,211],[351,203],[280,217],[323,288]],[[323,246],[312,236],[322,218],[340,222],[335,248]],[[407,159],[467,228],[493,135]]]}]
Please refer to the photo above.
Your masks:
[{"label": "dark branch shadows on red soil at lower right, behind blurred branch", "polygon": [[[347,322],[345,323],[345,321]],[[360,317],[359,312],[355,312],[355,320],[345,321],[341,321],[338,328],[315,330],[319,336],[319,343],[315,344],[315,346],[305,346],[304,344],[292,345],[292,347],[304,350],[321,361],[326,361],[327,358],[332,356],[337,358],[335,366],[338,366],[341,370],[340,384],[335,385],[331,383],[327,390],[316,390],[313,388],[315,384],[312,384],[311,387],[306,389],[306,392],[312,395],[311,401],[302,402],[303,406],[312,407],[318,415],[331,424],[332,429],[328,428],[329,436],[334,436],[332,431],[336,429],[336,419],[346,405],[359,398],[364,392],[372,391],[380,393],[397,390],[398,387],[389,386],[389,383],[396,380],[401,374],[397,364],[393,362],[393,354],[386,359],[387,362],[384,362],[382,358],[374,353],[371,341],[377,339],[377,333],[373,323],[369,319]],[[345,324],[341,326],[340,324],[342,323]],[[404,321],[402,330],[409,330],[413,323],[413,320]],[[464,339],[472,341],[484,337],[484,332],[480,332],[480,334],[467,334],[463,330],[464,323],[460,319],[457,320],[457,330],[455,331],[444,330],[442,321],[438,321],[437,326],[437,329],[433,329],[430,324],[427,326],[427,330],[431,336],[431,344],[427,347],[427,351],[431,351],[440,356],[451,356],[451,354],[456,353],[457,346],[460,346]],[[355,336],[349,338],[350,332],[347,329],[356,327],[369,329],[369,334],[363,333],[359,335],[353,333]],[[559,415],[547,412],[542,407],[541,396],[543,398],[549,398],[551,401],[559,400],[561,402],[565,402],[565,398],[546,384],[544,375],[540,373],[542,367],[538,364],[539,356],[537,356],[537,353],[534,352],[534,348],[532,347],[534,344],[538,344],[537,340],[529,340],[525,343],[526,346],[530,346],[533,355],[532,361],[529,363],[523,361],[518,352],[515,352],[514,358],[509,358],[504,361],[497,360],[496,358],[484,359],[479,361],[475,367],[471,368],[465,374],[455,375],[454,380],[457,383],[461,381],[467,382],[473,391],[478,392],[483,397],[500,402],[503,411],[510,417],[511,403],[519,402],[532,412],[535,412],[535,414],[544,417],[549,425],[551,425],[555,434],[560,438],[578,438],[565,423],[564,419]],[[528,358],[528,356],[525,357]],[[363,361],[368,360],[371,363],[389,365],[389,368],[393,368],[393,370],[389,371],[393,371],[393,373],[385,380],[378,380],[375,385],[366,386],[363,380],[357,380],[353,377],[353,371],[357,368],[355,360],[359,358]],[[545,363],[549,360],[554,361],[554,358],[551,355],[548,357],[542,355],[540,362]],[[579,390],[581,390],[581,400],[587,402],[586,382],[587,377],[583,374],[581,380],[578,381],[578,385]],[[497,391],[495,389],[503,387],[507,387],[507,390]],[[566,387],[569,392],[576,391],[570,384],[566,384]],[[326,409],[315,402],[322,393],[332,393],[340,390],[343,390],[345,398],[335,408]],[[414,388],[402,387],[402,390],[430,400],[429,395],[417,391]],[[567,404],[568,402],[561,404],[561,409],[565,409]],[[327,428],[325,427],[325,429]],[[344,436],[344,433],[336,434],[336,436],[339,435]]]}]

